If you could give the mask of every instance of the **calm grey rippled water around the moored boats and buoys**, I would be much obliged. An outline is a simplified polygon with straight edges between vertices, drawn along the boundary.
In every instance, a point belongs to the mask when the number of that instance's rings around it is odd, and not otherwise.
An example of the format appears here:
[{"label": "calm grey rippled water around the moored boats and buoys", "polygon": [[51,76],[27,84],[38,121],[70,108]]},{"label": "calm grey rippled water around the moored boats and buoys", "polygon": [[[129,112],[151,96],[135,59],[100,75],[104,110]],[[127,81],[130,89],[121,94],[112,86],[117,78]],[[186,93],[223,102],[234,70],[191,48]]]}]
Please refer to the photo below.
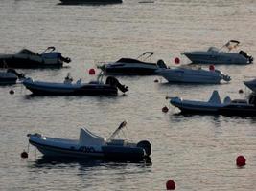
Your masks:
[{"label": "calm grey rippled water around the moored boats and buoys", "polygon": [[[84,81],[100,61],[155,52],[152,61],[174,65],[180,52],[221,47],[229,39],[256,56],[256,2],[253,0],[155,0],[105,6],[58,5],[58,0],[1,0],[0,52],[26,47],[38,52],[56,46],[72,58],[70,68],[21,71],[36,79],[62,81],[71,72]],[[183,63],[188,60],[181,57]],[[173,179],[177,190],[254,190],[256,187],[256,117],[180,116],[165,96],[206,100],[213,89],[221,96],[243,98],[243,80],[255,76],[255,65],[220,66],[229,84],[171,85],[153,83],[156,76],[119,77],[126,96],[28,96],[15,85],[0,91],[1,190],[165,190]],[[9,95],[13,89],[14,95]],[[129,137],[149,139],[152,165],[103,161],[51,162],[30,147],[28,133],[78,138],[80,127],[108,137],[123,120]],[[247,165],[238,169],[243,154]]]}]

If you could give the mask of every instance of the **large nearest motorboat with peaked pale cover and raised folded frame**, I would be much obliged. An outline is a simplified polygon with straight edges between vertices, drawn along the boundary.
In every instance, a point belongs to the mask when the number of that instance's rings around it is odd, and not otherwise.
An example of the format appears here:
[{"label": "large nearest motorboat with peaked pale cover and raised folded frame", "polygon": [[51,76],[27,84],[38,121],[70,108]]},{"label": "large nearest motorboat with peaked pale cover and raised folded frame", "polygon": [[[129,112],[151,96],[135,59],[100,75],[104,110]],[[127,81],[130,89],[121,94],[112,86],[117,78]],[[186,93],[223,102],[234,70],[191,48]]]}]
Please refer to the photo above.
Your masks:
[{"label": "large nearest motorboat with peaked pale cover and raised folded frame", "polygon": [[122,122],[109,138],[102,138],[85,128],[81,128],[79,139],[50,138],[40,134],[28,134],[29,142],[34,145],[44,158],[74,159],[113,159],[143,160],[151,155],[151,143],[142,140],[138,143],[126,139],[115,139],[126,126]]}]

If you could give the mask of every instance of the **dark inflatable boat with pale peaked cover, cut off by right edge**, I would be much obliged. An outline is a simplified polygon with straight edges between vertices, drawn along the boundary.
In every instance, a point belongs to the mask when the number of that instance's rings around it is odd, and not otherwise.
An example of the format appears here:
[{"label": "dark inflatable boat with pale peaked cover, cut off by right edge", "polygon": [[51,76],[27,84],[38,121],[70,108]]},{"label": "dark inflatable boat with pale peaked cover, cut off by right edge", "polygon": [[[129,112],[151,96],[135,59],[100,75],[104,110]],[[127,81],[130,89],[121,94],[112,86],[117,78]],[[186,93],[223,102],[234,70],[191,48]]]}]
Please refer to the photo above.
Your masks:
[{"label": "dark inflatable boat with pale peaked cover, cut off by right edge", "polygon": [[256,95],[248,99],[231,99],[226,96],[223,101],[218,91],[213,91],[208,101],[187,100],[181,97],[170,98],[170,103],[177,107],[182,114],[215,114],[226,116],[256,116]]}]

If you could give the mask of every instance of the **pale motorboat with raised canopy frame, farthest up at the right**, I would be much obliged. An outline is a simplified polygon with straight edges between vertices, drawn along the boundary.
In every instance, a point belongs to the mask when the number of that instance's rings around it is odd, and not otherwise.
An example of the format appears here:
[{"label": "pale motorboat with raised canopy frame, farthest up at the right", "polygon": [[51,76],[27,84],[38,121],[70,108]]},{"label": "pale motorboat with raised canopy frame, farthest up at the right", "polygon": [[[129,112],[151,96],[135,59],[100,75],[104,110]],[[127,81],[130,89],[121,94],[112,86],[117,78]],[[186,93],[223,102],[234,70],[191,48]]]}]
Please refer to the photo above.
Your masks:
[{"label": "pale motorboat with raised canopy frame, farthest up at the right", "polygon": [[[186,55],[195,64],[251,64],[253,57],[244,51],[239,53],[231,52],[239,44],[240,42],[237,40],[230,40],[221,49],[210,47],[207,51],[184,52],[181,54]],[[227,51],[222,51],[224,48]]]}]

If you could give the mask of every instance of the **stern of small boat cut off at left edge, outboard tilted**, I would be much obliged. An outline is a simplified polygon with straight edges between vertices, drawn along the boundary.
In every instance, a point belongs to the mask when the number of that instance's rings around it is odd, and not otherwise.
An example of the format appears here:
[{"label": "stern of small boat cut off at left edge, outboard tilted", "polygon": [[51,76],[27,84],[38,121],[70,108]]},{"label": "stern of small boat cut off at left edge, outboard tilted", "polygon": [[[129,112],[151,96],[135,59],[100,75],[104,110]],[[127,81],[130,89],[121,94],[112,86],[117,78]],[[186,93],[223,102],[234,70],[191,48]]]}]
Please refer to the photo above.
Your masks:
[{"label": "stern of small boat cut off at left edge, outboard tilted", "polygon": [[12,85],[17,82],[18,79],[25,78],[24,74],[19,74],[13,69],[8,69],[5,72],[0,72],[0,85]]}]

